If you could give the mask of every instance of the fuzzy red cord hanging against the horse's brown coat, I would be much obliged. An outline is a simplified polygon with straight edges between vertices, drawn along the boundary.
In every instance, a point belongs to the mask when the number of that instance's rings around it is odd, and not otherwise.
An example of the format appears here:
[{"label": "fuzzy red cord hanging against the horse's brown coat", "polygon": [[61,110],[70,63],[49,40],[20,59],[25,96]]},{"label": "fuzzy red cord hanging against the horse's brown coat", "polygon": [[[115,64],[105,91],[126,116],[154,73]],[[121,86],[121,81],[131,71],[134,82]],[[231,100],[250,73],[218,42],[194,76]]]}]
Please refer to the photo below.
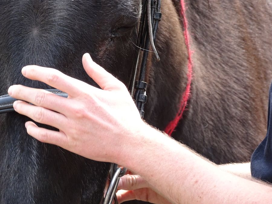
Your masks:
[{"label": "fuzzy red cord hanging against the horse's brown coat", "polygon": [[176,117],[170,121],[170,123],[166,126],[164,129],[165,133],[168,135],[172,135],[173,131],[176,129],[179,121],[181,120],[183,116],[183,112],[185,111],[185,108],[188,104],[188,100],[190,97],[190,90],[191,90],[191,82],[192,82],[192,75],[193,75],[193,64],[192,64],[192,52],[190,49],[190,37],[189,37],[189,31],[188,31],[188,21],[186,18],[186,7],[184,0],[180,0],[181,4],[181,16],[183,17],[183,26],[184,26],[184,39],[185,44],[188,51],[188,73],[187,73],[187,86],[185,89],[185,92],[182,95],[181,102],[180,102],[180,109],[176,114]]}]

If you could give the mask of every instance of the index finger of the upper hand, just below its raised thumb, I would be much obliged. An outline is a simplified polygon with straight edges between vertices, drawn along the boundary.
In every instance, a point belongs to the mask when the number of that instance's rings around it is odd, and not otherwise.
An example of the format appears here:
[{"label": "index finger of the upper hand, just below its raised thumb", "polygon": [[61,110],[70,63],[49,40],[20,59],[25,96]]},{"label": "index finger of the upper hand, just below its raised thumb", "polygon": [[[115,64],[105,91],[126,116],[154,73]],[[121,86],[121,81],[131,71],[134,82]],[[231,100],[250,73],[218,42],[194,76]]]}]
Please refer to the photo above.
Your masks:
[{"label": "index finger of the upper hand, just below its raised thumb", "polygon": [[[80,94],[81,88],[88,85],[52,68],[29,65],[22,68],[22,74],[28,79],[38,80],[66,92],[71,97]],[[81,88],[79,88],[81,87]]]}]

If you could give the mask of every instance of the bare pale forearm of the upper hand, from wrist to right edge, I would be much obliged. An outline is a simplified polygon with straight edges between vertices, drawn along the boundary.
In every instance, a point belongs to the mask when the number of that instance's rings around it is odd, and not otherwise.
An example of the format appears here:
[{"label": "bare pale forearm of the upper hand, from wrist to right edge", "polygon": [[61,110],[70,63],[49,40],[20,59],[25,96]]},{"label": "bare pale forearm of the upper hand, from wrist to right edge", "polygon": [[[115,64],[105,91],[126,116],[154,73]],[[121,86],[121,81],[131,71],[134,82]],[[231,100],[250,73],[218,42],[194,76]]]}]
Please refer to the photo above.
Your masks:
[{"label": "bare pale forearm of the upper hand, from wrist to right edge", "polygon": [[135,138],[136,144],[126,148],[120,160],[171,202],[270,202],[269,186],[225,172],[153,128],[144,134],[148,137]]}]

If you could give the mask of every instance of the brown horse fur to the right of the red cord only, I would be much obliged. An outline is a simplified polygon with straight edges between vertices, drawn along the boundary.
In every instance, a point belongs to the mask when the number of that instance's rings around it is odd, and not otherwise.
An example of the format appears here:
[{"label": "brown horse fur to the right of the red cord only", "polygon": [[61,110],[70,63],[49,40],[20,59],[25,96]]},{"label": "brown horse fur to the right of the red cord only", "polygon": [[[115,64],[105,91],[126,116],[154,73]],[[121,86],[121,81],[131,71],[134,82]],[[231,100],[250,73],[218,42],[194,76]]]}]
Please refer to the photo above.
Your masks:
[{"label": "brown horse fur to the right of the red cord only", "polygon": [[266,130],[269,4],[191,1],[187,6],[193,87],[173,137],[217,163],[249,160]]}]

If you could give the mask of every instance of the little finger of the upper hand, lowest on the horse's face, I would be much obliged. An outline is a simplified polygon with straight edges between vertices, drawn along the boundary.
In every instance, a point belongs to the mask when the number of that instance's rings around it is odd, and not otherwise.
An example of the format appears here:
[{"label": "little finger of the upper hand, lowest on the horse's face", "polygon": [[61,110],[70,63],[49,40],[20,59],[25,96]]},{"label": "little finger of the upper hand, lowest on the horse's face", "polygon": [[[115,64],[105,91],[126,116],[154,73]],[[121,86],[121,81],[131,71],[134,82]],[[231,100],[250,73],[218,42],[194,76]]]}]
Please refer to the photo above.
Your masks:
[{"label": "little finger of the upper hand, lowest on the horse's face", "polygon": [[40,128],[30,121],[28,121],[25,126],[27,128],[28,134],[36,138],[40,142],[55,144],[61,147],[66,146],[67,137],[63,132]]}]

